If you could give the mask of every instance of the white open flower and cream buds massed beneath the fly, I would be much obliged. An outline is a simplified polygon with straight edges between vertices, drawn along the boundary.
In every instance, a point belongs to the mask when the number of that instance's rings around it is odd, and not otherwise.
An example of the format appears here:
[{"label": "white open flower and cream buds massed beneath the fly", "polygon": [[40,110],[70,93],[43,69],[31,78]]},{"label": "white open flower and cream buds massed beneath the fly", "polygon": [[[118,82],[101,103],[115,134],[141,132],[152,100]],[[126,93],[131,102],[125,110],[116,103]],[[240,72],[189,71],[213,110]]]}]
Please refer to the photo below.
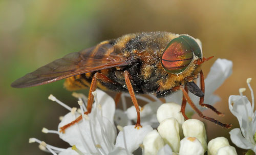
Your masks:
[{"label": "white open flower and cream buds massed beneath the fly", "polygon": [[[65,115],[58,127],[66,125],[75,120],[83,113],[82,95],[78,97],[80,109],[68,107],[55,97],[50,95],[49,99],[60,103],[71,112]],[[80,96],[80,97],[79,97]],[[58,134],[59,137],[68,142],[70,148],[58,148],[45,142],[31,138],[30,142],[38,142],[39,148],[59,155],[82,155],[82,154],[132,154],[142,147],[143,154],[193,154],[203,155],[207,150],[206,131],[204,124],[196,119],[184,120],[180,113],[181,105],[176,103],[164,103],[157,109],[157,120],[160,125],[157,130],[143,125],[135,128],[134,125],[121,127],[116,136],[114,125],[115,103],[114,100],[104,92],[97,90],[96,104],[92,113],[83,115],[82,121],[75,123],[65,130],[65,134],[59,131],[43,128],[45,133]],[[86,99],[84,99],[86,100]],[[182,140],[181,140],[182,139]],[[141,145],[142,144],[142,145]],[[208,143],[208,154],[236,155],[236,150],[231,147],[225,138],[216,138]]]}]

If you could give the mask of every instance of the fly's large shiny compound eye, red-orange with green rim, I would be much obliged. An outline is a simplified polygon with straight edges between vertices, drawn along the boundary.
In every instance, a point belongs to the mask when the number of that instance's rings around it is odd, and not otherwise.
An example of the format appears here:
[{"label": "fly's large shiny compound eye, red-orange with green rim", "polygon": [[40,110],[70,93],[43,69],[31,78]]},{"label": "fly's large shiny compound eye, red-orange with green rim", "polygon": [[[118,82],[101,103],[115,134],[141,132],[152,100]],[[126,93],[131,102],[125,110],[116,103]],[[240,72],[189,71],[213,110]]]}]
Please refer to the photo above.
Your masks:
[{"label": "fly's large shiny compound eye, red-orange with green rim", "polygon": [[168,43],[161,62],[167,72],[180,74],[187,69],[194,56],[202,57],[197,41],[188,35],[180,35]]}]

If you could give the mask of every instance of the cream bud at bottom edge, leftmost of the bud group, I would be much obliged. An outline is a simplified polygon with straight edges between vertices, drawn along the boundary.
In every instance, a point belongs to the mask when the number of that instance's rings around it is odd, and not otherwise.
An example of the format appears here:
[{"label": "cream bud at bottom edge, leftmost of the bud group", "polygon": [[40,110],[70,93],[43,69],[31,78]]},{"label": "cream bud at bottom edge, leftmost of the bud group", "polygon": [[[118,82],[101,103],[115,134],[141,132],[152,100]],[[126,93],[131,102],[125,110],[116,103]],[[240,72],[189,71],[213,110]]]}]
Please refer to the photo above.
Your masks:
[{"label": "cream bud at bottom edge, leftmost of the bud group", "polygon": [[144,154],[157,154],[164,147],[164,142],[157,130],[152,130],[143,139]]}]

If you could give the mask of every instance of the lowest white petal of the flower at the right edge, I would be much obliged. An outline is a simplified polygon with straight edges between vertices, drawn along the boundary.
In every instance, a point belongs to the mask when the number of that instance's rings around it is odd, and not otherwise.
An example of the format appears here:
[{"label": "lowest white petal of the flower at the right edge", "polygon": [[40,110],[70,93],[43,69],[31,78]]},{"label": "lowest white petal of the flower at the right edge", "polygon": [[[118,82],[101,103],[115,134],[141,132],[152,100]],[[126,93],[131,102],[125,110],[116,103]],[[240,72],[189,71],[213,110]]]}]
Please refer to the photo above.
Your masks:
[{"label": "lowest white petal of the flower at the right edge", "polygon": [[231,141],[237,145],[237,147],[243,149],[252,149],[255,152],[255,145],[253,145],[249,140],[245,139],[241,134],[240,128],[234,128],[230,132],[230,139]]}]

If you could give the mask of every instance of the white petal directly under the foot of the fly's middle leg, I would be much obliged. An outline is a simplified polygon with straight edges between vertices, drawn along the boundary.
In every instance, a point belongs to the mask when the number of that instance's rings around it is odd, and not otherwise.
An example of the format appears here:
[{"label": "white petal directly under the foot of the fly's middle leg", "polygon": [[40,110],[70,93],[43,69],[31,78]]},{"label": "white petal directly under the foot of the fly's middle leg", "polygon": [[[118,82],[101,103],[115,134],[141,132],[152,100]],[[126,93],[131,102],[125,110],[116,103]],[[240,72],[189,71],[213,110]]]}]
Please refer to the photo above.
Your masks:
[{"label": "white petal directly under the foot of the fly's middle leg", "polygon": [[[142,126],[142,128],[135,128],[134,125],[124,126],[123,127],[125,133],[125,141],[127,144],[127,150],[129,152],[135,151],[139,148],[139,145],[142,144],[144,137],[146,134],[153,130],[151,126]],[[123,139],[123,131],[120,131],[116,138],[115,147],[124,147],[124,139]]]}]

